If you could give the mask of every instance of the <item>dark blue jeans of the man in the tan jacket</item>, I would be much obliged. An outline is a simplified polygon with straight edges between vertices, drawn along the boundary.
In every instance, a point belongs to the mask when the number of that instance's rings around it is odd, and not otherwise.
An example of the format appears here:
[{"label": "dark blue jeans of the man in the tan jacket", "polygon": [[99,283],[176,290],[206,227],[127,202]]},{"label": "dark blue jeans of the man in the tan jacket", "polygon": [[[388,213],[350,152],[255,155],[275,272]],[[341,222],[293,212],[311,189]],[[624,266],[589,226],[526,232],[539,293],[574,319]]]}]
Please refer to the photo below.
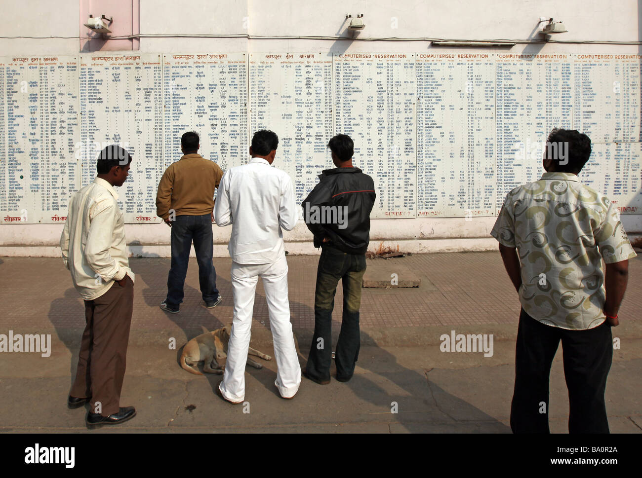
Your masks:
[{"label": "dark blue jeans of the man in the tan jacket", "polygon": [[212,237],[212,216],[177,216],[171,225],[171,268],[167,279],[167,305],[177,309],[183,302],[183,286],[187,275],[189,249],[194,241],[198,282],[205,302],[218,300],[216,269],[212,262],[214,239]]}]

